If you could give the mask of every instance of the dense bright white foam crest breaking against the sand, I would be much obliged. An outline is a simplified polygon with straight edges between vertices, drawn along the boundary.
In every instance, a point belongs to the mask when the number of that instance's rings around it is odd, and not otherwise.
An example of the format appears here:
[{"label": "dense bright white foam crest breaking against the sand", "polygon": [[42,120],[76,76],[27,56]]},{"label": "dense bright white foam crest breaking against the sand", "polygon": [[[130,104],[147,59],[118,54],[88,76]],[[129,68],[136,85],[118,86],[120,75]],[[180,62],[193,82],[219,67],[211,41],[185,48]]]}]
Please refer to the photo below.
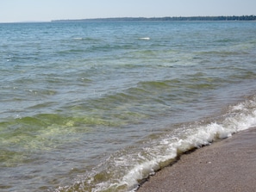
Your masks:
[{"label": "dense bright white foam crest breaking against the sand", "polygon": [[215,139],[224,139],[232,136],[233,133],[256,126],[256,109],[251,110],[252,105],[255,107],[255,102],[240,103],[230,110],[231,114],[236,111],[235,115],[228,116],[219,123],[212,122],[206,126],[193,127],[187,131],[184,139],[175,141],[170,136],[160,140],[159,144],[154,144],[151,150],[146,150],[153,153],[151,154],[153,158],[142,164],[135,164],[134,168],[122,178],[122,183],[127,183],[130,189],[134,188],[136,184],[139,184],[138,181],[159,170],[159,164],[176,158],[178,152],[187,152],[194,147],[209,145]]}]

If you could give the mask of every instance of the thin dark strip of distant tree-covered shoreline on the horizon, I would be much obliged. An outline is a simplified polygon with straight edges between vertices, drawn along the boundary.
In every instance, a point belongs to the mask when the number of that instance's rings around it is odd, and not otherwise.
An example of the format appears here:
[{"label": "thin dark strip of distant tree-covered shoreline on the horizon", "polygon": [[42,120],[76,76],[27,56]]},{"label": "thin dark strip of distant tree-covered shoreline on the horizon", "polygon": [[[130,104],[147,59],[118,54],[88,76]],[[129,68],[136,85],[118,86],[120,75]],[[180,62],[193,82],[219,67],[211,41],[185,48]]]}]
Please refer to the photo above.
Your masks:
[{"label": "thin dark strip of distant tree-covered shoreline on the horizon", "polygon": [[165,17],[116,17],[78,20],[53,20],[52,22],[132,22],[132,21],[159,21],[159,22],[186,22],[186,21],[256,21],[256,15],[242,16],[165,16]]}]

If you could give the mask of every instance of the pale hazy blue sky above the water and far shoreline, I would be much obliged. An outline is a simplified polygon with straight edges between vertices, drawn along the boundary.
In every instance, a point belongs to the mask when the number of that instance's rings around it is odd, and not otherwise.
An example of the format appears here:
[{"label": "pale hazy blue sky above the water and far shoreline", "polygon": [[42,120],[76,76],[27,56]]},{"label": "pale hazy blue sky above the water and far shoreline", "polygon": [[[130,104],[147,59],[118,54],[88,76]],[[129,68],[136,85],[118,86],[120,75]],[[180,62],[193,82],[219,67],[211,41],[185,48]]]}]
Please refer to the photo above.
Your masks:
[{"label": "pale hazy blue sky above the water and far shoreline", "polygon": [[195,15],[256,15],[256,0],[0,0],[0,22]]}]

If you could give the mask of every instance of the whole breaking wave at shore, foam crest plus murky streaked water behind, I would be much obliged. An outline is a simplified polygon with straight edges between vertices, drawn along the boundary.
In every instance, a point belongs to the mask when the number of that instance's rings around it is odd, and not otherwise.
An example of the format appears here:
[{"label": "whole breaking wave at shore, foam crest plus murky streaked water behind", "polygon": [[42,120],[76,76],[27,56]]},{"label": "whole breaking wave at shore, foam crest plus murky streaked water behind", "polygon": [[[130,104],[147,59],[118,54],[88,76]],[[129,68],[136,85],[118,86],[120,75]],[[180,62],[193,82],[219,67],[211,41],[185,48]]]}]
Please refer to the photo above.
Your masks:
[{"label": "whole breaking wave at shore, foam crest plus murky streaked water behind", "polygon": [[212,120],[180,125],[160,136],[152,134],[140,141],[140,147],[129,146],[116,152],[72,186],[56,191],[134,191],[143,180],[182,153],[254,126],[256,96],[228,107],[226,113]]}]

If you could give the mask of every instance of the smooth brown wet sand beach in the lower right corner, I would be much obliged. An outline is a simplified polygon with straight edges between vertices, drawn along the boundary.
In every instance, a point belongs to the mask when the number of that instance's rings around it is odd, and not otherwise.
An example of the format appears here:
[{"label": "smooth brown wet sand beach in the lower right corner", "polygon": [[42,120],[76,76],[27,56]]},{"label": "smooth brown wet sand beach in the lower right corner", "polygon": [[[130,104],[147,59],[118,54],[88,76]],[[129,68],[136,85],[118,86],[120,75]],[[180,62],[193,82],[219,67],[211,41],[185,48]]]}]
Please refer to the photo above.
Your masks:
[{"label": "smooth brown wet sand beach in the lower right corner", "polygon": [[182,155],[138,191],[256,191],[256,127]]}]

